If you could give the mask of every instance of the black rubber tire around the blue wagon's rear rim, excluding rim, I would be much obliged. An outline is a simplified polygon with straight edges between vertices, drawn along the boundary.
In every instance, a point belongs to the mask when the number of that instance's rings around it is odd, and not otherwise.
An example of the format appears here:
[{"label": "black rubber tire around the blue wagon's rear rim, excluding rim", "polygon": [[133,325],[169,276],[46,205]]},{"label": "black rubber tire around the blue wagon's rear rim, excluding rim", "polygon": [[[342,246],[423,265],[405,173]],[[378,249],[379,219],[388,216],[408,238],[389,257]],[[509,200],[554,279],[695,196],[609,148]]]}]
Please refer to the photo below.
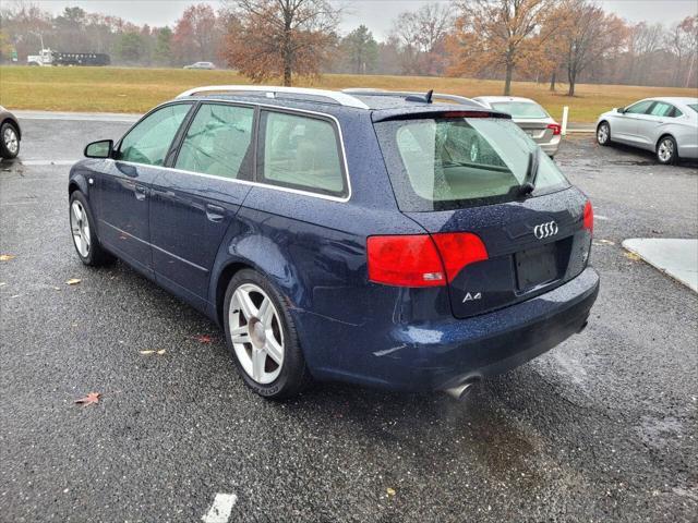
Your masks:
[{"label": "black rubber tire around the blue wagon's rear rim, excluding rim", "polygon": [[[282,329],[284,363],[278,377],[269,384],[261,384],[248,374],[236,353],[230,336],[230,306],[232,296],[236,290],[249,283],[262,289],[266,296],[270,299],[278,313],[278,323]],[[310,385],[312,378],[305,365],[305,358],[303,357],[303,352],[300,346],[293,318],[289,314],[284,296],[262,275],[252,269],[243,269],[232,277],[226,290],[222,321],[226,330],[226,342],[228,343],[228,349],[238,368],[238,373],[245,385],[257,394],[270,400],[284,400],[297,396]]]}]

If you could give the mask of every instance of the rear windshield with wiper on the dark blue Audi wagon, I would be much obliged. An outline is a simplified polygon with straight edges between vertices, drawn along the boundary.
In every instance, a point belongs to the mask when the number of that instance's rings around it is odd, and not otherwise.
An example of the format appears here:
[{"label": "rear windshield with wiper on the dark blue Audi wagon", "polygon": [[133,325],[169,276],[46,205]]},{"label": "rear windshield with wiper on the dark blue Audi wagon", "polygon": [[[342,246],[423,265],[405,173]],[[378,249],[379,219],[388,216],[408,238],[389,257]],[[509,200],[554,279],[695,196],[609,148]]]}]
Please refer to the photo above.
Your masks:
[{"label": "rear windshield with wiper on the dark blue Audi wagon", "polygon": [[472,207],[519,198],[531,154],[533,195],[569,186],[557,166],[510,120],[448,118],[375,124],[401,210]]}]

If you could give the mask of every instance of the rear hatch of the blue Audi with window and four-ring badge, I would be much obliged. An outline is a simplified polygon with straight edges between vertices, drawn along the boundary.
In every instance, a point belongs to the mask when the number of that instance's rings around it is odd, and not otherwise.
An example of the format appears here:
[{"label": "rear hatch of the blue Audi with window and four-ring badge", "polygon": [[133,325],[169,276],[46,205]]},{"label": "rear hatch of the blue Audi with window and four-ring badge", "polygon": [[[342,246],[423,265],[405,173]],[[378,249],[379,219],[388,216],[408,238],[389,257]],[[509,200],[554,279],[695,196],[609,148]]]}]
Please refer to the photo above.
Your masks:
[{"label": "rear hatch of the blue Audi with window and four-ring badge", "polygon": [[[479,259],[447,279],[456,317],[528,300],[583,270],[587,198],[510,120],[449,112],[380,121],[375,129],[398,206],[432,235],[446,271],[454,254]],[[522,191],[533,173],[533,191]],[[444,252],[469,248],[441,241],[454,233],[477,236],[485,259]]]}]

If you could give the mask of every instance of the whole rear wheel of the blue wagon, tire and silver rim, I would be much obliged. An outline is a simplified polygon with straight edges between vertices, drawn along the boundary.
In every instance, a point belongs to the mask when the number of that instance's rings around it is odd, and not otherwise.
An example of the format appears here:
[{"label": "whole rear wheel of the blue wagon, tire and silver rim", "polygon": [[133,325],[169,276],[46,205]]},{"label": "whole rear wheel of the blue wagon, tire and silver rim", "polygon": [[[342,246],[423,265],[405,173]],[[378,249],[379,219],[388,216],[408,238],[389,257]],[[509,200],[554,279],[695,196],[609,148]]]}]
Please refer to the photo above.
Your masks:
[{"label": "whole rear wheel of the blue wagon, tire and silver rim", "polygon": [[282,296],[258,272],[236,273],[226,291],[226,341],[245,385],[280,400],[310,381],[293,319]]}]

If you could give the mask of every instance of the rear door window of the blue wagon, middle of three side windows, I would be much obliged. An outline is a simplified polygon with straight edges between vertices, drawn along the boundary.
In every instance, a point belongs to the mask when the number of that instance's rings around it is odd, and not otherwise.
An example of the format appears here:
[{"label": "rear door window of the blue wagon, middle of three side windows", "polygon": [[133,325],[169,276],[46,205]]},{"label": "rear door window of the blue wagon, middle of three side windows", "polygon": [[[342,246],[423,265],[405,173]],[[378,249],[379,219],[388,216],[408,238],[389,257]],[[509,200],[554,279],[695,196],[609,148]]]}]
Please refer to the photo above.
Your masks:
[{"label": "rear door window of the blue wagon, middle of three side windows", "polygon": [[203,104],[186,131],[174,167],[224,178],[250,178],[254,109]]}]

